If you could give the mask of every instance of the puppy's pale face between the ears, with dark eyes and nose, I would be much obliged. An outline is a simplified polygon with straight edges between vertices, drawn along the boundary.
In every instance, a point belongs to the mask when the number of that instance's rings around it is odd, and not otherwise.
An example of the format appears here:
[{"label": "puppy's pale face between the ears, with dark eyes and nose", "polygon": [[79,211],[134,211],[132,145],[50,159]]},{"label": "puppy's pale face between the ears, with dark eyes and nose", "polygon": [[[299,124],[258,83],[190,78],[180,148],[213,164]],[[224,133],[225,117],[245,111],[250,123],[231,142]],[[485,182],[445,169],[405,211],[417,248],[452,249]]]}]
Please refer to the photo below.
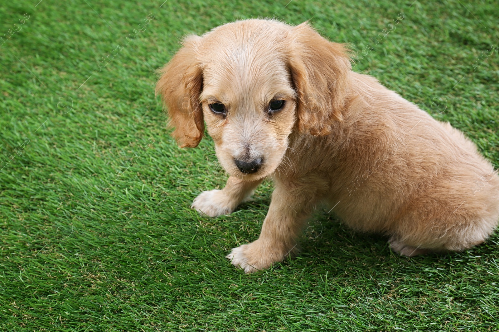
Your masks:
[{"label": "puppy's pale face between the ears, with dark eyes and nose", "polygon": [[223,51],[220,46],[207,50],[200,102],[224,169],[256,180],[273,172],[286,152],[296,93],[275,47],[268,40],[248,43],[229,40]]}]

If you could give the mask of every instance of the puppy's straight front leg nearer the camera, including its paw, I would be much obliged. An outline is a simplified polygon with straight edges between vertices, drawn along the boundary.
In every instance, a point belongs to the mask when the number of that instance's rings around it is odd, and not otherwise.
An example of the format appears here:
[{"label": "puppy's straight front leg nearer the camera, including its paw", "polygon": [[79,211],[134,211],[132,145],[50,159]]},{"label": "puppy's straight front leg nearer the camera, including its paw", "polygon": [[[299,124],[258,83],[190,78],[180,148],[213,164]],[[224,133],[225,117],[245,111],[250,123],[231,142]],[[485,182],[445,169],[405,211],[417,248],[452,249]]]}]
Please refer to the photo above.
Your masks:
[{"label": "puppy's straight front leg nearer the camera, including its paw", "polygon": [[300,191],[291,191],[287,186],[275,188],[258,239],[233,248],[226,256],[233,265],[251,273],[281,262],[292,253],[302,224],[315,205],[314,194],[306,189]]}]

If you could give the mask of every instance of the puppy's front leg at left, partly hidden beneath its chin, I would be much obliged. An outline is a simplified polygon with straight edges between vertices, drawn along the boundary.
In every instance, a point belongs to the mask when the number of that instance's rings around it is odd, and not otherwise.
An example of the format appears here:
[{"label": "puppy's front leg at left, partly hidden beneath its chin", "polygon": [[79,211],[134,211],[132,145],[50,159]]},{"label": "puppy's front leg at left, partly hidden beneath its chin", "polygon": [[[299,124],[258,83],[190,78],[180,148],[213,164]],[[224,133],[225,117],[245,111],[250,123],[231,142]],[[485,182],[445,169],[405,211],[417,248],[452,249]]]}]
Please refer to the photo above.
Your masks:
[{"label": "puppy's front leg at left, partly hidden beneath its chin", "polygon": [[209,217],[230,214],[241,202],[250,198],[261,181],[243,181],[230,176],[224,189],[202,192],[194,199],[191,208]]}]

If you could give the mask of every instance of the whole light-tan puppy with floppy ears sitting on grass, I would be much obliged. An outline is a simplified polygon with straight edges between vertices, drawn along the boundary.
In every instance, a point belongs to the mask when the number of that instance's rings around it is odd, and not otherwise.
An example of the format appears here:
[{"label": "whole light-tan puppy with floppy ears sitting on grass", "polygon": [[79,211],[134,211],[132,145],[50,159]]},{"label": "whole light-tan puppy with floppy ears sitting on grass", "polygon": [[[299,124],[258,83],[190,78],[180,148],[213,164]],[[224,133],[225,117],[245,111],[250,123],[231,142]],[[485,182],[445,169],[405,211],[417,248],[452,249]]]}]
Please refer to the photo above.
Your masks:
[{"label": "whole light-tan puppy with floppy ears sitting on grass", "polygon": [[347,52],[306,23],[249,19],[188,36],[160,71],[172,135],[196,147],[206,121],[230,175],[194,209],[229,214],[275,183],[260,236],[227,256],[247,273],[291,255],[318,205],[406,256],[465,250],[498,224],[492,164],[449,123],[351,71]]}]

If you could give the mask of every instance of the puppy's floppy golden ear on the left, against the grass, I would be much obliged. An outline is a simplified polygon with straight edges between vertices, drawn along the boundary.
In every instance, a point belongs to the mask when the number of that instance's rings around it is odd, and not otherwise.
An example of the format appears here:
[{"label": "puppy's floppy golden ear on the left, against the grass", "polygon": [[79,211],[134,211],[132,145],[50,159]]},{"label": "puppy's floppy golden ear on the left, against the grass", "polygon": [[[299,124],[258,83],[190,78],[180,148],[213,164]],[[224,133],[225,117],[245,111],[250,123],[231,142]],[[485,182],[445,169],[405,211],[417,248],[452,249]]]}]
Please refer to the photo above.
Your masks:
[{"label": "puppy's floppy golden ear on the left, against the grass", "polygon": [[175,128],[172,136],[180,147],[198,146],[205,131],[203,110],[199,95],[203,76],[197,62],[201,37],[192,35],[183,41],[183,47],[159,70],[156,95],[161,95],[168,109],[169,126]]}]

